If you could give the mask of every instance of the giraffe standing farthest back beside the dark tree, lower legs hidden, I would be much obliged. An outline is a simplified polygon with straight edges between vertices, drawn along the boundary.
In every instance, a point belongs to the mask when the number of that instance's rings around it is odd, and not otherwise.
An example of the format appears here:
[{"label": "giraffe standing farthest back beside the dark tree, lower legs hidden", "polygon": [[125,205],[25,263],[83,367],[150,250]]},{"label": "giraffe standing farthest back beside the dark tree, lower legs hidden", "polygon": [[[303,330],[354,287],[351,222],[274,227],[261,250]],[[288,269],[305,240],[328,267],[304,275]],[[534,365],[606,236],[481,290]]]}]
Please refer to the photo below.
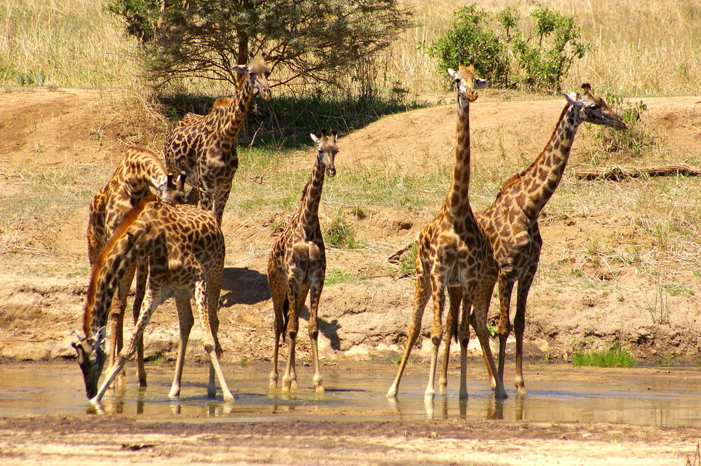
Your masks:
[{"label": "giraffe standing farthest back beside the dark tree, lower legs hidden", "polygon": [[196,190],[189,198],[198,198],[200,207],[215,212],[219,225],[238,170],[236,139],[253,92],[258,89],[265,100],[271,97],[271,68],[265,57],[252,57],[247,65],[232,68],[243,74],[233,99],[217,100],[207,115],[187,114],[165,137],[163,153],[168,170],[185,172],[188,184]]}]

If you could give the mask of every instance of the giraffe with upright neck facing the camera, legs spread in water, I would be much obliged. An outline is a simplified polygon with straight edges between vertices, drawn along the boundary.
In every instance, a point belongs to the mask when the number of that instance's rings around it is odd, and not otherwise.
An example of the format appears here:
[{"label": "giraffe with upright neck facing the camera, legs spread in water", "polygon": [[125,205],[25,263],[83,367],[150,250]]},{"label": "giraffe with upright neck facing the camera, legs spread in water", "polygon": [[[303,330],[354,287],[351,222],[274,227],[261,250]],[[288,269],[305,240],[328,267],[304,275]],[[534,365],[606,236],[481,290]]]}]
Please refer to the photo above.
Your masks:
[{"label": "giraffe with upright neck facing the camera, legs spread in water", "polygon": [[[445,288],[448,288],[451,312],[457,311],[461,302],[463,310],[469,310],[477,291],[484,263],[491,256],[491,247],[477,226],[468,197],[470,184],[470,102],[477,100],[475,90],[486,87],[487,82],[477,78],[474,62],[471,61],[465,66],[460,60],[458,64],[458,71],[448,69],[449,76],[455,81],[458,97],[453,177],[443,205],[418,236],[413,320],[409,324],[407,347],[404,349],[397,376],[387,392],[388,398],[397,396],[402,373],[421,329],[423,310],[426,308],[430,296],[433,296],[430,369],[424,395],[427,403],[433,401],[438,348],[443,335],[442,313]],[[489,348],[486,316],[477,315],[476,317],[471,322],[472,326],[475,328],[479,343],[482,345],[487,363],[496,370],[494,357],[492,357]],[[467,318],[463,318],[458,330],[458,341],[461,345],[461,399],[468,397],[465,378],[467,345],[470,339],[469,323]],[[447,338],[446,344],[448,343],[449,338]],[[498,399],[507,397],[503,384],[497,383],[494,394]]]}]

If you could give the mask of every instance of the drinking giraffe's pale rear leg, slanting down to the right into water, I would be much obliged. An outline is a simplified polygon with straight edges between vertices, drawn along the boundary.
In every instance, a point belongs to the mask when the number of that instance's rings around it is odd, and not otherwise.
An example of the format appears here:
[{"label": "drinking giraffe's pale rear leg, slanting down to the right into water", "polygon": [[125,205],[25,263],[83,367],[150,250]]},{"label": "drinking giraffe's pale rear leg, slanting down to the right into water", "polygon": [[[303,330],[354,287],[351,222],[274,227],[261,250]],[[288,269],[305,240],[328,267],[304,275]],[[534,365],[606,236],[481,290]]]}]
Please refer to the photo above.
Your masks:
[{"label": "drinking giraffe's pale rear leg, slanting down to the right into water", "polygon": [[[216,283],[212,284],[212,294],[208,291],[208,285],[205,280],[198,280],[195,283],[195,302],[197,305],[197,314],[202,325],[202,338],[205,345],[205,352],[210,357],[210,383],[207,385],[207,396],[214,397],[217,394],[217,387],[214,384],[214,374],[212,374],[212,368],[214,373],[217,374],[219,379],[219,384],[222,385],[222,394],[224,395],[224,402],[233,402],[233,395],[231,395],[231,390],[229,390],[229,385],[226,384],[226,379],[224,378],[224,371],[222,371],[222,365],[219,363],[219,356],[217,355],[217,338],[212,332],[212,322],[210,321],[210,315],[216,314],[217,309],[212,309],[212,303],[216,303],[215,306],[219,304],[219,290],[221,286],[216,286]],[[220,285],[220,284],[219,284]],[[216,290],[216,291],[215,291]],[[216,296],[216,299],[213,297]]]}]

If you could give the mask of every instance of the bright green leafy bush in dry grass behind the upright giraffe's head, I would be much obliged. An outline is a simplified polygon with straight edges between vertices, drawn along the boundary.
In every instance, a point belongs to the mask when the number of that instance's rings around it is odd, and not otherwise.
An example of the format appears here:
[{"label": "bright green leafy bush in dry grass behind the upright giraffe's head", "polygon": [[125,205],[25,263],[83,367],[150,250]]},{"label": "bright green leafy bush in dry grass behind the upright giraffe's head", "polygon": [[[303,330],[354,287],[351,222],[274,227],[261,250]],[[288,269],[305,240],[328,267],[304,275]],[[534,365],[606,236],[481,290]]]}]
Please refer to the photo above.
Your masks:
[{"label": "bright green leafy bush in dry grass behind the upright giraffe's head", "polygon": [[458,58],[475,57],[477,74],[498,88],[559,91],[573,61],[592,48],[580,42],[573,18],[540,5],[525,31],[519,29],[524,23],[519,11],[510,6],[491,15],[472,4],[455,15],[452,28],[428,53],[441,71],[455,67]]}]

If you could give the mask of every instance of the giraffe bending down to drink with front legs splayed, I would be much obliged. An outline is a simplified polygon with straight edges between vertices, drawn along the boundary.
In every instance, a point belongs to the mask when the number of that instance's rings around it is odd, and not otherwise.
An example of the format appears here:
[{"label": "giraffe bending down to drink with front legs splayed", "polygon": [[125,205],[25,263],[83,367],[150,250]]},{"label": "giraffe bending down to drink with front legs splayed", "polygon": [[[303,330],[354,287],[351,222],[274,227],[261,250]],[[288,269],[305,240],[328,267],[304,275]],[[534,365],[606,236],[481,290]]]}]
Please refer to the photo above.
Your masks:
[{"label": "giraffe bending down to drink with front legs splayed", "polygon": [[[107,372],[102,385],[97,383],[106,358],[104,324],[115,289],[127,270],[147,259],[149,286],[144,310],[124,348]],[[180,381],[193,314],[190,298],[195,299],[202,326],[205,352],[210,357],[210,381],[207,395],[215,397],[215,374],[222,385],[224,401],[233,401],[219,364],[221,348],[217,338],[219,292],[224,270],[224,235],[212,212],[193,205],[170,205],[156,196],[142,200],[124,218],[93,264],[83,314],[83,333],[73,347],[83,371],[90,402],[99,404],[109,385],[124,364],[134,355],[137,341],[163,301],[175,297],[180,323],[175,376],[169,397],[180,395]],[[76,332],[77,334],[77,332]]]}]

